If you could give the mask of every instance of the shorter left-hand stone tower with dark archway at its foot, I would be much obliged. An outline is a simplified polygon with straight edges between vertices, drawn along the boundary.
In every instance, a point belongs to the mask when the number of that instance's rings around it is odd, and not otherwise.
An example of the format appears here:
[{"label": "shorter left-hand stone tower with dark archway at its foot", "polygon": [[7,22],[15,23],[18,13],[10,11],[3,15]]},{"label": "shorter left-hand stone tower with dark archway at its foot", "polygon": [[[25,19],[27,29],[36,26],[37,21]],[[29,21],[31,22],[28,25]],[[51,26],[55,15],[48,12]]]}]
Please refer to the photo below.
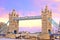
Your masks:
[{"label": "shorter left-hand stone tower with dark archway at its foot", "polygon": [[19,30],[19,21],[14,20],[13,18],[18,18],[18,14],[13,9],[12,13],[9,14],[9,32],[18,33]]}]

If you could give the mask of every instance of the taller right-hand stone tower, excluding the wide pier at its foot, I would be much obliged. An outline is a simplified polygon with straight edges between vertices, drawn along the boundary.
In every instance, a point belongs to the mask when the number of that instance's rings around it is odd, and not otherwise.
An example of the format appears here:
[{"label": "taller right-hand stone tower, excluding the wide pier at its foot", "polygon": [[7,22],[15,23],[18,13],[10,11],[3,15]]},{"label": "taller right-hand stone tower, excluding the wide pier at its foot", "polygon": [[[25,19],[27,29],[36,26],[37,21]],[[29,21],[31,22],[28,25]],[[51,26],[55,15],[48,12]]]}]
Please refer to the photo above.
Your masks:
[{"label": "taller right-hand stone tower, excluding the wide pier at its foot", "polygon": [[52,18],[52,12],[48,10],[48,6],[42,11],[42,33],[48,33],[52,30],[52,25],[48,21],[48,18]]}]

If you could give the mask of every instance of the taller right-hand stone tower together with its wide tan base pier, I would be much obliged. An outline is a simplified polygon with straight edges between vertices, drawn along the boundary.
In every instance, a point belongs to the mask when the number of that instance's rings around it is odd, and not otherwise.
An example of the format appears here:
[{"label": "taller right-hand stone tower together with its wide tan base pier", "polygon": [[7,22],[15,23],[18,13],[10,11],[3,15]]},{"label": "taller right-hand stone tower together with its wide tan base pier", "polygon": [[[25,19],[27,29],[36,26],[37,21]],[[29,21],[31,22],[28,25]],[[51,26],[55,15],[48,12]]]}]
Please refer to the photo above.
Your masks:
[{"label": "taller right-hand stone tower together with its wide tan base pier", "polygon": [[52,25],[49,22],[49,18],[52,19],[52,12],[48,10],[48,6],[42,11],[42,33],[40,34],[40,38],[42,39],[49,39],[48,31],[52,31]]}]

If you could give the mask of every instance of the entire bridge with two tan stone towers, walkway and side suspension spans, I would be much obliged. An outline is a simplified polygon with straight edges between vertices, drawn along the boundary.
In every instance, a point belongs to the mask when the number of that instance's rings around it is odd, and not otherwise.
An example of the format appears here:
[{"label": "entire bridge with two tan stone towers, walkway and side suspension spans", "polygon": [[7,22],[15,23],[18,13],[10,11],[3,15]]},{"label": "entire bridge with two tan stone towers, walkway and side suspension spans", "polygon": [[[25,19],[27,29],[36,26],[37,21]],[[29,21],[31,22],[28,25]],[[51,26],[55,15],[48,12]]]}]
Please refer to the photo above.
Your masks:
[{"label": "entire bridge with two tan stone towers, walkway and side suspension spans", "polygon": [[[48,10],[48,7],[46,6],[44,11],[41,11],[40,16],[25,16],[25,17],[19,17],[18,14],[16,14],[16,11],[13,10],[12,14],[9,14],[9,21],[6,23],[9,23],[9,32],[16,32],[18,33],[19,27],[19,20],[35,20],[35,19],[41,19],[42,20],[42,38],[48,38],[48,30],[52,31],[52,24],[58,28],[58,25],[53,19],[52,19],[52,12]],[[5,30],[5,26],[3,26],[0,29],[0,33]],[[8,28],[6,28],[8,29]],[[44,33],[47,33],[44,34]]]}]

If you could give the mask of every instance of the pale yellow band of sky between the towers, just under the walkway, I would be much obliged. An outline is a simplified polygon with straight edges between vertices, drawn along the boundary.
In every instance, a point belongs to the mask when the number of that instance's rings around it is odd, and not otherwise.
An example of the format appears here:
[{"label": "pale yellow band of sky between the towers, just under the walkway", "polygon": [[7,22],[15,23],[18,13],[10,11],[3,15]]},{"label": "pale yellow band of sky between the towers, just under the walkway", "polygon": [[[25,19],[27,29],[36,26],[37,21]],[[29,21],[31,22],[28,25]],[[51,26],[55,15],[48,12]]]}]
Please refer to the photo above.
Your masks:
[{"label": "pale yellow band of sky between the towers, just under the walkway", "polygon": [[34,26],[41,26],[41,20],[22,20],[19,21],[20,27],[29,27],[32,28]]}]

